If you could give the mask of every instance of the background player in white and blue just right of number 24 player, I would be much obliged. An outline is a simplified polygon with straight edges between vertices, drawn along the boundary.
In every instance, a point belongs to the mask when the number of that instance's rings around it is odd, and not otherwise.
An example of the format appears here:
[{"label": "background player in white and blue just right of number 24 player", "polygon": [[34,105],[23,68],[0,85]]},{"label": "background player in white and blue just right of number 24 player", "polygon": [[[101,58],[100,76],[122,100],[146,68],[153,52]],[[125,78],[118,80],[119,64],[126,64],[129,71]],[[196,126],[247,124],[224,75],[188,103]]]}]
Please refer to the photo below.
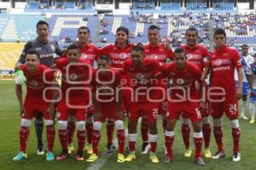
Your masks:
[{"label": "background player in white and blue just right of number 24 player", "polygon": [[247,94],[250,94],[250,87],[246,77],[247,66],[253,64],[253,57],[248,54],[249,46],[243,44],[241,46],[241,65],[243,67],[243,82],[242,82],[242,105],[241,105],[241,118],[247,120],[245,116],[247,110]]}]

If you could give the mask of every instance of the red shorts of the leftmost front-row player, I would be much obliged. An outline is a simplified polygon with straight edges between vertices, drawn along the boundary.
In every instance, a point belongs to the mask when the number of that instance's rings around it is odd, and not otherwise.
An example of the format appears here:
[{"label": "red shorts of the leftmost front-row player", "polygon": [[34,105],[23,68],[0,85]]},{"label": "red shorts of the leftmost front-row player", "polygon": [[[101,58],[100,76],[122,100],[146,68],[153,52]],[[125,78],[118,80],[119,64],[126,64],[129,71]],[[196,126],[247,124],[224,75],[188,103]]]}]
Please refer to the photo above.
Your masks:
[{"label": "red shorts of the leftmost front-row player", "polygon": [[44,119],[52,119],[49,115],[47,109],[49,108],[49,103],[43,101],[42,99],[25,99],[24,102],[24,113],[22,114],[23,119],[32,119],[35,117],[37,112],[43,113]]}]

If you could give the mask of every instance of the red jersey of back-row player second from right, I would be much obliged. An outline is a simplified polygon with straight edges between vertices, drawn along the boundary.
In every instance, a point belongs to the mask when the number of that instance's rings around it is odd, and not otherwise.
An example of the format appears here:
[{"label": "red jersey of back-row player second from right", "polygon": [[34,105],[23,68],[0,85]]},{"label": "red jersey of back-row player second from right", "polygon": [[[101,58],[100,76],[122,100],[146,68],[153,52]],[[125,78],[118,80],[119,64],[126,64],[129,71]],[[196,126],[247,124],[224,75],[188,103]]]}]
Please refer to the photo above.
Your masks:
[{"label": "red jersey of back-row player second from right", "polygon": [[183,45],[181,48],[185,50],[187,60],[194,65],[198,65],[201,71],[210,65],[210,54],[207,48],[199,44],[196,44],[195,48],[189,48],[187,45]]}]

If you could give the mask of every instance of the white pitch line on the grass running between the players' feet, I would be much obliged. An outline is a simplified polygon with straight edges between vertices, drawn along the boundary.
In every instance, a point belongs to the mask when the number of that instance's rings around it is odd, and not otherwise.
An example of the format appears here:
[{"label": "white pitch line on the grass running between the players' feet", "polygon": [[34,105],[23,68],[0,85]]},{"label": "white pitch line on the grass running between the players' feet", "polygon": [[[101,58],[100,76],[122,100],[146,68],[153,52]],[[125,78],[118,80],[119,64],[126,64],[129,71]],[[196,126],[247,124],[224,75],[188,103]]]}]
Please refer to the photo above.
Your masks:
[{"label": "white pitch line on the grass running between the players' feet", "polygon": [[[125,139],[126,139],[127,135],[128,135],[128,129],[126,128],[125,129]],[[113,140],[113,145],[115,145],[116,149],[118,148],[119,144],[118,144],[118,140],[116,138]],[[88,167],[86,170],[99,170],[101,167],[103,167],[103,165],[106,163],[108,158],[111,157],[112,155],[113,155],[113,152],[108,153],[107,150],[105,150],[101,154],[100,158],[97,161],[91,163],[90,167]]]}]

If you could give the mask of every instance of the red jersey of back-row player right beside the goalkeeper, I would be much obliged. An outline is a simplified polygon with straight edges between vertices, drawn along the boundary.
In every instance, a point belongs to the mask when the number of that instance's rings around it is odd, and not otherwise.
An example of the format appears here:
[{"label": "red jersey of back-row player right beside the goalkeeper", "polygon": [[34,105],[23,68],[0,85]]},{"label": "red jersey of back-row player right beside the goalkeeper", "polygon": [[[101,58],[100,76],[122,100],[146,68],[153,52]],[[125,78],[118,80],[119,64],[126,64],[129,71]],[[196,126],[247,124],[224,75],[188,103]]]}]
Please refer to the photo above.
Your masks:
[{"label": "red jersey of back-row player right beside the goalkeeper", "polygon": [[[88,43],[85,48],[79,46],[79,49],[81,52],[81,59],[87,60],[90,63],[90,65],[93,66],[94,61],[100,54],[100,49],[96,48],[96,46],[94,46],[91,43]],[[67,58],[67,54],[62,54],[61,58]]]}]

